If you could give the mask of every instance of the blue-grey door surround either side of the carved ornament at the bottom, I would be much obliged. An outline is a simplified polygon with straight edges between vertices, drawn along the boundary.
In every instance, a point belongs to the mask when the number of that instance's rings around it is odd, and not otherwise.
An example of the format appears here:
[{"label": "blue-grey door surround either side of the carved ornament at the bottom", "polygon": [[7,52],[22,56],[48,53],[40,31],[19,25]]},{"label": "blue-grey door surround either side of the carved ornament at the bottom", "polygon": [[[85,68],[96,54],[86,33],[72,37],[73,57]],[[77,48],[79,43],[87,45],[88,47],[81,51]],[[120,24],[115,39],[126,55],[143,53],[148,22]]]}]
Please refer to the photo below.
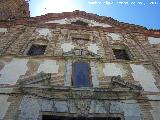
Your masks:
[{"label": "blue-grey door surround either side of the carved ornament at the bottom", "polygon": [[[141,120],[141,110],[133,100],[126,101],[108,101],[91,100],[88,103],[89,113],[119,113],[124,114],[125,120]],[[77,108],[74,102],[71,101],[57,101],[57,100],[46,100],[31,96],[25,96],[20,104],[20,113],[18,120],[41,120],[41,113],[43,111],[57,112],[57,113],[76,113]],[[108,111],[109,110],[109,111]]]}]

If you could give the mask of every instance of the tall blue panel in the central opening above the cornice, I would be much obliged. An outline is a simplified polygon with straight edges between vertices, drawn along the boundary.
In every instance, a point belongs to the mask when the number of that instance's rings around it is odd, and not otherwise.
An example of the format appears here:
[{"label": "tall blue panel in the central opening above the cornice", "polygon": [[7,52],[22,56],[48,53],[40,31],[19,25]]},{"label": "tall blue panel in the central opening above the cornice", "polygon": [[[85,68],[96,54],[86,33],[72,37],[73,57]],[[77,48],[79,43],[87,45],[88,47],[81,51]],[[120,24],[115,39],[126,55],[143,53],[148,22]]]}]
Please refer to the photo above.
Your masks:
[{"label": "tall blue panel in the central opening above the cornice", "polygon": [[89,87],[89,64],[77,62],[73,64],[73,86]]}]

